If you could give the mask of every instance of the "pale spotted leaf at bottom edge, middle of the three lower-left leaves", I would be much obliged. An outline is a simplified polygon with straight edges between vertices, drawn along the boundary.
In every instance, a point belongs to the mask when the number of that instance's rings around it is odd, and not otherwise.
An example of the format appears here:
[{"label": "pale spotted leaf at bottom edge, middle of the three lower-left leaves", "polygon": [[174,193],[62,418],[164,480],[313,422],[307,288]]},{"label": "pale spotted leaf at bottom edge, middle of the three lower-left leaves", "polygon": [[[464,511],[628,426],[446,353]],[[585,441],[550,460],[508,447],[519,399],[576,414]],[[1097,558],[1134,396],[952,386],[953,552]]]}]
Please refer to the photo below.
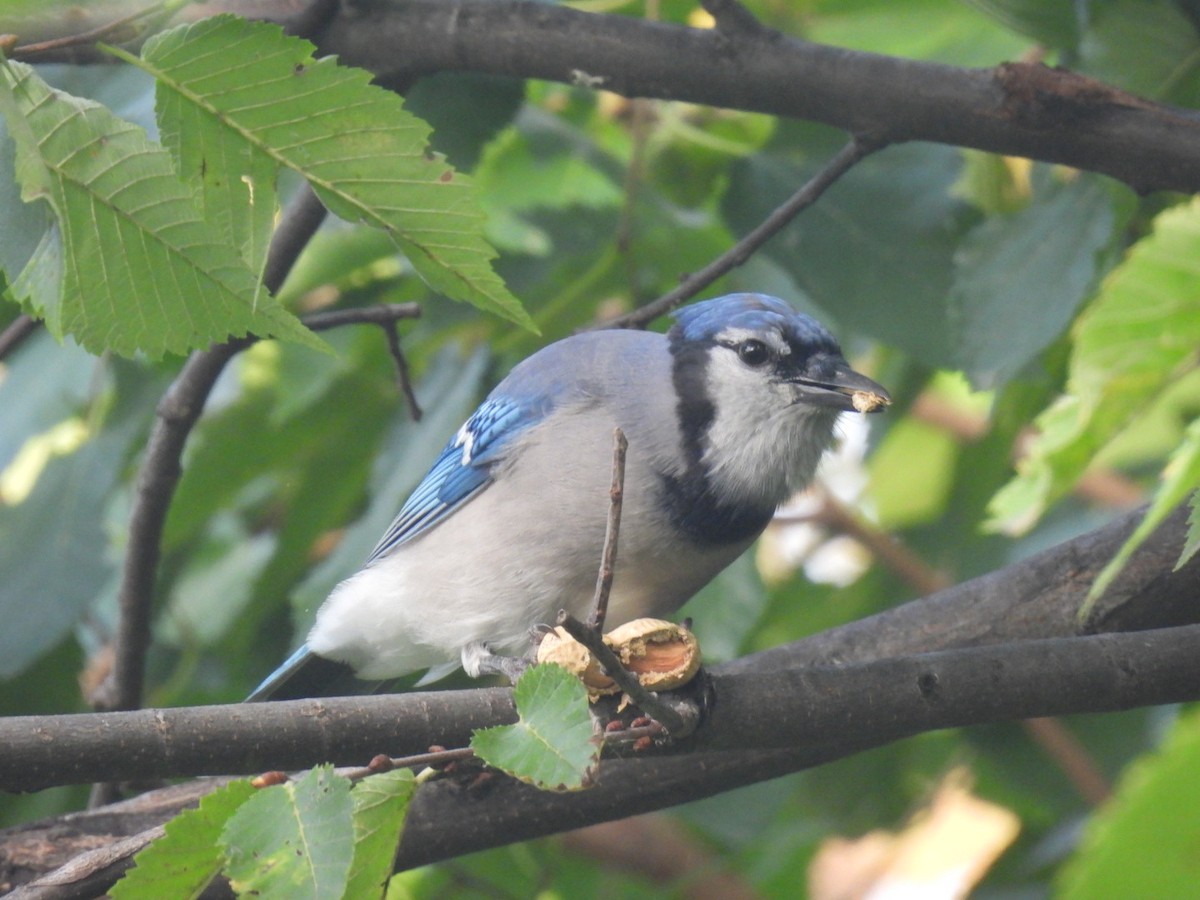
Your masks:
[{"label": "pale spotted leaf at bottom edge, middle of the three lower-left leaves", "polygon": [[319,766],[268,787],[226,823],[226,875],[239,894],[337,900],[354,856],[350,782]]}]

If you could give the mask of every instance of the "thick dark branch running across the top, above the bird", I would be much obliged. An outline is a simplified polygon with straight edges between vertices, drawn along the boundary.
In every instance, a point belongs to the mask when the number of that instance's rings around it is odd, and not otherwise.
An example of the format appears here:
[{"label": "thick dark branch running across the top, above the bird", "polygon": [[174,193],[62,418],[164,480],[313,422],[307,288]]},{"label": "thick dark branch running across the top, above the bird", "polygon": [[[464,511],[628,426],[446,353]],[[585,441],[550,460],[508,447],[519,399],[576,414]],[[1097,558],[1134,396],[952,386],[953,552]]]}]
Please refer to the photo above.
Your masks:
[{"label": "thick dark branch running across the top, above the bird", "polygon": [[[1200,190],[1200,116],[1040,65],[959,68],[530,0],[359,2],[319,38],[377,73],[474,71],[773,113]],[[595,79],[599,79],[596,82]]]}]

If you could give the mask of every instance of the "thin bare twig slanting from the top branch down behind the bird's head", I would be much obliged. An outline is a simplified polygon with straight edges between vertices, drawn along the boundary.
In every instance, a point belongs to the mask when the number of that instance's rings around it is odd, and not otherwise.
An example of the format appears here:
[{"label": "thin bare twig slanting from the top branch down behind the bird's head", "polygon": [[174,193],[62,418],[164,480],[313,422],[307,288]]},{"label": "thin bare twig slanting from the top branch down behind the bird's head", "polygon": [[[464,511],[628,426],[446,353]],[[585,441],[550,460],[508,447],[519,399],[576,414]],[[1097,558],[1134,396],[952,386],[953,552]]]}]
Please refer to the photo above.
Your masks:
[{"label": "thin bare twig slanting from the top branch down behind the bird's head", "polygon": [[805,182],[781,206],[763,220],[762,224],[739,240],[721,256],[697,272],[688,275],[679,287],[632,312],[604,322],[596,328],[646,328],[650,322],[689,300],[722,275],[727,275],[749,259],[763,244],[774,238],[788,222],[811,206],[826,190],[863,157],[878,150],[883,144],[872,138],[856,136],[834,156],[824,168]]}]

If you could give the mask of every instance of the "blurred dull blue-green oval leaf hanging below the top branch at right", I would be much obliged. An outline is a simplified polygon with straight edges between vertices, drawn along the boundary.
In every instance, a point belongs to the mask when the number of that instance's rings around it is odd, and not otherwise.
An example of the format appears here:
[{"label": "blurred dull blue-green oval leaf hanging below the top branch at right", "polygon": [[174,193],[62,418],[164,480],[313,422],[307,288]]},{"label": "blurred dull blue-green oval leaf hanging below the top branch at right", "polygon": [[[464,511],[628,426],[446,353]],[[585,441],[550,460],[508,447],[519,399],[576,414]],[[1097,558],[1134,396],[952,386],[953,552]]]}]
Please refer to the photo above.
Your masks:
[{"label": "blurred dull blue-green oval leaf hanging below the top branch at right", "polygon": [[966,235],[955,256],[949,312],[959,366],[976,388],[1008,382],[1062,334],[1120,226],[1105,185],[1080,175]]}]

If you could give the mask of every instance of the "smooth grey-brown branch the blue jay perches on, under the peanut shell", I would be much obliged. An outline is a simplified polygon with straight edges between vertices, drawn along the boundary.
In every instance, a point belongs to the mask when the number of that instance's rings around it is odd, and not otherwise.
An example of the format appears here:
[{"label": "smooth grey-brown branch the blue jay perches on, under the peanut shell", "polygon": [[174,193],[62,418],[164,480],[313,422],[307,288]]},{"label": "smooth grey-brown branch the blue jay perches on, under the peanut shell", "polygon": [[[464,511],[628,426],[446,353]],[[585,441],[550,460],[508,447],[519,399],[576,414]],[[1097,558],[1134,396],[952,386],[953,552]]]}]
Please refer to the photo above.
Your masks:
[{"label": "smooth grey-brown branch the blue jay perches on, under the peanut shell", "polygon": [[[811,668],[718,667],[674,751],[875,745],[922,731],[1200,700],[1200,625]],[[1048,689],[1052,685],[1052,689]],[[364,763],[515,720],[508,689],[0,719],[0,788]]]}]

